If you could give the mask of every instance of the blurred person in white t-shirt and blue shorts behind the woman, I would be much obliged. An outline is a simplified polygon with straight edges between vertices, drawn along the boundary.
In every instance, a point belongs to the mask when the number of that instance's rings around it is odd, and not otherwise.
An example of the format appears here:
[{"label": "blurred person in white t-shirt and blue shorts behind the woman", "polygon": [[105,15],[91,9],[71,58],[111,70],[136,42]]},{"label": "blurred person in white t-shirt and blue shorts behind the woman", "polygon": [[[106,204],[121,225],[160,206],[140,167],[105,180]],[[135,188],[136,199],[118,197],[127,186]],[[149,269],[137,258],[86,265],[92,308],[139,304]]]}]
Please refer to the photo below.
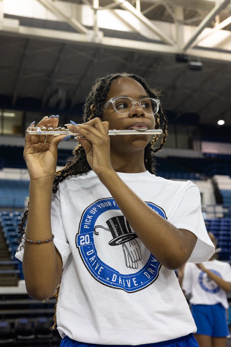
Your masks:
[{"label": "blurred person in white t-shirt and blue shorts behind the woman", "polygon": [[[208,235],[216,247],[214,235]],[[178,280],[184,294],[191,295],[189,303],[197,327],[194,336],[199,347],[226,347],[230,264],[214,259],[214,255],[204,263],[186,263],[178,269]]]}]

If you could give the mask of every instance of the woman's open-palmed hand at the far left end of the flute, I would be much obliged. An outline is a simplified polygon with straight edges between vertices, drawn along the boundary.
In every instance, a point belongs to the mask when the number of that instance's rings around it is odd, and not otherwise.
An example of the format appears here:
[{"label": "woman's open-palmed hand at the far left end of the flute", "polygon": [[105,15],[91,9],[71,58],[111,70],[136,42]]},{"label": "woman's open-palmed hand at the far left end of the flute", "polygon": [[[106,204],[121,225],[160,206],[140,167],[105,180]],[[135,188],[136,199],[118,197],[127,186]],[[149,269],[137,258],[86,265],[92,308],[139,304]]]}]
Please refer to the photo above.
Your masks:
[{"label": "woman's open-palmed hand at the far left end of the flute", "polygon": [[[57,128],[59,118],[44,117],[37,127]],[[27,135],[25,136],[25,147],[23,157],[27,164],[30,180],[54,179],[57,166],[57,146],[64,138],[60,136]]]}]

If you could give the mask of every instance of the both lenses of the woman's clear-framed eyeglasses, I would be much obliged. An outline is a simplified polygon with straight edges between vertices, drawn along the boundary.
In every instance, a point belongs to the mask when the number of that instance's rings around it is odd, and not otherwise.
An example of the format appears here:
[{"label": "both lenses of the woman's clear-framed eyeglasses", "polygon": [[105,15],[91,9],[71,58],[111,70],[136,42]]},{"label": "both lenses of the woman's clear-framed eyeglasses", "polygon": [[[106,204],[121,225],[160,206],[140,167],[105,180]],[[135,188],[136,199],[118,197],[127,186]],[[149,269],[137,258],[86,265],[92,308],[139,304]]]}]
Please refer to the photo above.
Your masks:
[{"label": "both lenses of the woman's clear-framed eyeglasses", "polygon": [[[118,113],[129,113],[133,109],[134,101],[129,98],[117,98],[114,101],[115,109]],[[140,100],[140,105],[144,112],[148,115],[156,114],[157,112],[157,102],[150,98],[145,98]]]}]

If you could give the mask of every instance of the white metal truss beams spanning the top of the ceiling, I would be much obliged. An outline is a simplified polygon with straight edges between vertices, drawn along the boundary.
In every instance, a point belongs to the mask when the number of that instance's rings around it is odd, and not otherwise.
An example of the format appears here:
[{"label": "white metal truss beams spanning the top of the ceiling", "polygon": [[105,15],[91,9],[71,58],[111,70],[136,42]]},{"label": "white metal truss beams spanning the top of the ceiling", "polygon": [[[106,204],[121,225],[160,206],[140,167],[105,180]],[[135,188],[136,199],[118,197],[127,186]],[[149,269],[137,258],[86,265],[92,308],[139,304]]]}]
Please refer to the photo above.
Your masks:
[{"label": "white metal truss beams spanning the top of the ceiling", "polygon": [[[34,0],[42,4],[46,9],[51,11],[59,20],[62,22],[68,23],[75,31],[77,32],[65,32],[60,30],[53,29],[42,29],[35,27],[27,27],[14,24],[13,28],[9,28],[10,22],[7,22],[8,18],[1,19],[2,16],[2,3],[4,0],[0,0],[0,34],[2,35],[14,35],[14,36],[25,36],[25,37],[34,37],[35,39],[46,39],[52,41],[59,41],[63,43],[78,43],[78,44],[87,44],[88,46],[102,46],[103,48],[118,48],[122,50],[132,50],[137,52],[146,52],[146,53],[163,53],[163,54],[188,54],[190,56],[196,56],[206,59],[213,60],[225,60],[231,61],[231,48],[229,50],[221,49],[209,50],[195,48],[195,44],[198,44],[200,41],[204,40],[207,36],[212,35],[214,32],[217,32],[223,29],[225,26],[231,23],[231,17],[225,19],[222,23],[216,24],[216,26],[211,29],[210,33],[206,33],[204,36],[199,36],[203,30],[211,23],[211,21],[217,16],[222,10],[227,9],[230,6],[230,0],[217,0],[217,1],[205,1],[205,0],[136,0],[134,6],[124,0],[113,0],[113,3],[110,3],[104,7],[99,6],[99,0],[92,0],[92,5],[89,0],[82,0],[85,5],[75,4],[74,6],[91,7],[92,11],[92,30],[86,28],[85,25],[81,23],[81,20],[70,17],[68,11],[65,13],[65,6],[69,6],[69,2],[64,1],[54,1],[54,0]],[[150,6],[141,12],[140,10],[140,1],[149,3]],[[62,3],[63,2],[63,3]],[[60,7],[62,4],[62,7]],[[155,24],[153,20],[145,17],[145,14],[149,13],[151,10],[157,6],[162,5],[165,7],[167,13],[172,17],[174,24],[162,22],[163,25],[159,26]],[[215,5],[215,6],[214,6]],[[120,7],[126,12],[130,13],[139,20],[140,25],[135,25],[128,17],[123,16],[123,11],[119,12],[114,10],[114,6],[117,8]],[[193,34],[190,37],[185,38],[185,20],[184,20],[184,8],[189,9],[202,9],[206,10],[208,14],[202,20],[202,22],[194,29]],[[63,10],[64,9],[64,10]],[[116,37],[106,37],[103,35],[103,32],[99,29],[99,22],[97,13],[98,11],[105,10],[113,11],[117,17],[119,17],[127,25],[128,28],[132,28],[132,31],[144,35],[147,37],[148,33],[151,33],[153,37],[157,37],[156,42],[145,42],[145,41],[134,41]],[[109,10],[108,10],[109,9]],[[198,20],[198,16],[196,16]],[[186,22],[189,24],[193,19],[188,19]],[[6,24],[7,23],[7,24]],[[11,19],[12,23],[12,19]],[[174,27],[170,27],[174,25]],[[161,28],[160,28],[161,27]],[[144,33],[146,28],[146,34]],[[175,29],[175,33],[172,33],[170,29]],[[171,35],[171,37],[170,37]],[[159,43],[158,43],[159,41]]]}]

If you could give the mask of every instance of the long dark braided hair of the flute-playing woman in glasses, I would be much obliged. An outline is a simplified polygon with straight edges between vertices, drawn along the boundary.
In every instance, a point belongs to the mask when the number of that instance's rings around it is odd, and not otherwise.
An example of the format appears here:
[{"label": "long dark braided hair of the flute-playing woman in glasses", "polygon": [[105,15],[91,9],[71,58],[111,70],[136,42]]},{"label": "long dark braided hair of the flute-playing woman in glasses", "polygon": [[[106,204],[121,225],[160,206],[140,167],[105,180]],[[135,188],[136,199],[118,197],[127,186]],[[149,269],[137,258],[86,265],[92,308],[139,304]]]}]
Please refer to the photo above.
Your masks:
[{"label": "long dark braided hair of the flute-playing woman in glasses", "polygon": [[[101,118],[103,105],[106,101],[110,86],[112,85],[113,81],[115,81],[117,78],[120,77],[130,77],[135,79],[137,82],[139,82],[150,98],[159,99],[160,92],[156,89],[152,89],[149,87],[144,79],[140,76],[134,75],[134,74],[128,74],[128,73],[116,73],[116,74],[110,74],[102,78],[97,78],[95,84],[92,86],[92,89],[86,99],[84,108],[83,108],[83,121],[87,122],[91,119],[94,119],[96,117]],[[144,165],[145,169],[148,170],[151,174],[156,173],[155,169],[155,158],[153,156],[154,153],[157,151],[160,151],[162,147],[166,143],[166,137],[167,137],[167,120],[165,118],[165,114],[163,113],[162,107],[160,105],[158,113],[155,115],[155,129],[159,129],[162,127],[162,141],[156,149],[154,149],[154,145],[158,141],[160,135],[155,135],[152,137],[151,141],[146,145],[144,149]],[[89,166],[87,162],[87,157],[85,154],[85,150],[83,147],[78,144],[73,152],[72,156],[69,157],[66,160],[65,166],[56,172],[54,177],[54,183],[53,183],[53,193],[56,193],[58,190],[58,185],[60,182],[62,182],[66,177],[69,176],[75,176],[79,174],[83,174],[85,172],[88,172],[91,170],[91,167]],[[28,203],[29,208],[29,203]],[[25,234],[24,225],[27,220],[28,216],[28,208],[25,210],[21,222],[19,223],[18,233],[19,233],[19,241],[21,242],[23,235]],[[54,297],[58,298],[59,295],[59,286],[56,289],[56,292],[54,294]],[[56,305],[55,305],[55,315],[54,315],[54,325],[53,329],[55,328],[56,324]]]}]

